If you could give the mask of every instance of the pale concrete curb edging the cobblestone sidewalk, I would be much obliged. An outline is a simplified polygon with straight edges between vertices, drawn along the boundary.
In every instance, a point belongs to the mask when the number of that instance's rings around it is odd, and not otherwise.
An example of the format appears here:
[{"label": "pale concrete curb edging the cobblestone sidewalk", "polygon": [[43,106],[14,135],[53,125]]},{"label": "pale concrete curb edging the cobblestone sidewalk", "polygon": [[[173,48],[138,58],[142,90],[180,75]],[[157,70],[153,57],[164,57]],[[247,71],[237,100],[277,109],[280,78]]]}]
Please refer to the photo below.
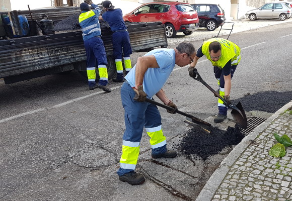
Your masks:
[{"label": "pale concrete curb edging the cobblestone sidewalk", "polygon": [[215,172],[210,176],[209,180],[201,190],[200,194],[195,201],[209,201],[212,199],[216,189],[220,186],[222,180],[228,173],[230,166],[234,164],[236,159],[244,152],[247,146],[250,144],[251,140],[254,140],[264,129],[266,129],[281,113],[292,106],[292,100],[284,105],[281,109],[275,112],[271,117],[269,117],[262,124],[257,126],[253,132],[246,136],[221,162],[220,167],[218,167]]}]

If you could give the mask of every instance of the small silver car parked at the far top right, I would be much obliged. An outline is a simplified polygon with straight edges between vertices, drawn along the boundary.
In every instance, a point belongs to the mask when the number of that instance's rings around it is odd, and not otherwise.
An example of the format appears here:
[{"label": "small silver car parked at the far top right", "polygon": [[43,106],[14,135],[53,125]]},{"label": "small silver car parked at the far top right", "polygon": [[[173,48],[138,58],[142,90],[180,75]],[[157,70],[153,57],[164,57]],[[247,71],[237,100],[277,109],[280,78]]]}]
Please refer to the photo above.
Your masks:
[{"label": "small silver car parked at the far top right", "polygon": [[276,18],[283,21],[289,19],[290,16],[291,10],[285,3],[267,3],[245,14],[245,17],[250,20]]}]

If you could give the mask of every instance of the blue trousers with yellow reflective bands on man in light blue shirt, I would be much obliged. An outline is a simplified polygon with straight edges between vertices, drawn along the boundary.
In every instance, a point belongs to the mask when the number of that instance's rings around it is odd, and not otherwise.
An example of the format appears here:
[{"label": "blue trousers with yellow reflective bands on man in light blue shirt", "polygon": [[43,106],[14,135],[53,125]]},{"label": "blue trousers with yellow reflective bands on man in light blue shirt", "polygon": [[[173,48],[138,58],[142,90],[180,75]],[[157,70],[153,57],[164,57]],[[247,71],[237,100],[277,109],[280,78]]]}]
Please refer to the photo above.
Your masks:
[{"label": "blue trousers with yellow reflective bands on man in light blue shirt", "polygon": [[144,127],[151,137],[152,153],[158,154],[166,151],[166,138],[162,132],[161,116],[158,108],[147,102],[137,102],[133,100],[134,96],[135,92],[132,87],[124,82],[121,87],[121,99],[125,110],[126,130],[123,135],[118,175],[123,175],[135,169]]}]

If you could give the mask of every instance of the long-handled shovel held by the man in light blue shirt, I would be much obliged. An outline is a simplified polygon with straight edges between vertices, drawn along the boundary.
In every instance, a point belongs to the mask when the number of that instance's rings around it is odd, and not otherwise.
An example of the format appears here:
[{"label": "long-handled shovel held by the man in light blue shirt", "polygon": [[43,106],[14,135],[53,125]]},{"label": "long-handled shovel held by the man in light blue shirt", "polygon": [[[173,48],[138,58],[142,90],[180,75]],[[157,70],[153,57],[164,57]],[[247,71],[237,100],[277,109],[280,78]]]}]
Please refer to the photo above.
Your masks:
[{"label": "long-handled shovel held by the man in light blue shirt", "polygon": [[[164,105],[164,104],[158,103],[158,102],[156,102],[155,100],[153,100],[153,99],[149,99],[149,98],[146,98],[145,102],[148,102],[148,103],[154,104],[154,105],[156,105],[156,106],[160,106],[160,107],[165,108],[165,109],[170,110],[170,111],[172,111],[172,110],[174,109],[174,108],[172,108],[172,107],[169,107],[169,106],[167,106],[167,105]],[[186,117],[190,118],[191,121],[192,121],[194,124],[189,124],[189,125],[197,125],[197,126],[200,126],[201,128],[203,128],[203,129],[204,129],[205,131],[207,131],[208,133],[211,132],[211,130],[212,130],[212,126],[211,126],[211,124],[209,124],[209,123],[207,123],[207,122],[204,122],[204,121],[202,121],[202,120],[200,120],[200,119],[198,119],[198,118],[196,118],[196,117],[194,117],[194,116],[192,116],[192,115],[190,115],[190,114],[187,114],[187,113],[181,112],[181,111],[179,111],[179,110],[177,110],[177,109],[175,109],[175,112],[178,113],[178,114],[180,114],[180,115],[183,115],[183,116],[186,116]]]}]

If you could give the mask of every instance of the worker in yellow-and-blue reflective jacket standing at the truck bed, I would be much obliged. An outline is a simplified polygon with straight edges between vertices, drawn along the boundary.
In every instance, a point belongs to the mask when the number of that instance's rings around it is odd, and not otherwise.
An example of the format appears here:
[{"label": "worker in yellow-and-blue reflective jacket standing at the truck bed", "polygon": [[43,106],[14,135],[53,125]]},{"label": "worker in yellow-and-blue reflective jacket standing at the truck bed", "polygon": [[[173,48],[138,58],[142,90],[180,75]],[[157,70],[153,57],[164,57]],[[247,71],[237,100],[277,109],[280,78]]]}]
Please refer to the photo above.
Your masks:
[{"label": "worker in yellow-and-blue reflective jacket standing at the truck bed", "polygon": [[[79,16],[79,23],[81,26],[81,31],[83,32],[84,46],[87,56],[87,76],[89,89],[93,90],[97,87],[103,89],[106,92],[111,92],[111,90],[106,86],[108,84],[108,74],[107,74],[107,58],[104,48],[103,41],[101,39],[100,24],[98,21],[98,16],[100,15],[101,9],[96,7],[91,10],[87,3],[82,3],[80,5],[82,13]],[[99,71],[99,83],[96,84],[96,61],[98,63]]]}]

